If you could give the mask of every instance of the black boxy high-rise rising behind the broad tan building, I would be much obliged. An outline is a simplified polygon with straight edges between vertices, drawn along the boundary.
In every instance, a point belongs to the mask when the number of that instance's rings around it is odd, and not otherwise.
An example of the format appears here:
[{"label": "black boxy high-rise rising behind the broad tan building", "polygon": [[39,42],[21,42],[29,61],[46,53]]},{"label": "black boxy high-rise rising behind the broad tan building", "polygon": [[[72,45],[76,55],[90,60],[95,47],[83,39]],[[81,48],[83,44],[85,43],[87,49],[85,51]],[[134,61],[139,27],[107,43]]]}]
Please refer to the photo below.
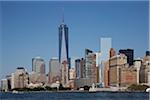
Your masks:
[{"label": "black boxy high-rise rising behind the broad tan building", "polygon": [[123,53],[127,56],[127,63],[133,65],[134,60],[134,50],[133,49],[121,49],[119,53]]}]

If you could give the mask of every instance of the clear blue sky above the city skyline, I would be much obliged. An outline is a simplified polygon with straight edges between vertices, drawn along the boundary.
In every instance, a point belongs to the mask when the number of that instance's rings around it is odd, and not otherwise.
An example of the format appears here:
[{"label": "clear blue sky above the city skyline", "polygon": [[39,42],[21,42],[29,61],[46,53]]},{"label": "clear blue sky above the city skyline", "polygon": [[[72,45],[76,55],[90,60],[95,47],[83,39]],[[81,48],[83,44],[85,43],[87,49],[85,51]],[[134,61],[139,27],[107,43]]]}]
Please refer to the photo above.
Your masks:
[{"label": "clear blue sky above the city skyline", "polygon": [[58,56],[58,26],[62,8],[69,27],[71,57],[84,49],[100,50],[100,37],[111,37],[113,48],[132,48],[135,57],[148,49],[148,2],[0,2],[0,79],[23,66],[31,72],[32,58],[46,62]]}]

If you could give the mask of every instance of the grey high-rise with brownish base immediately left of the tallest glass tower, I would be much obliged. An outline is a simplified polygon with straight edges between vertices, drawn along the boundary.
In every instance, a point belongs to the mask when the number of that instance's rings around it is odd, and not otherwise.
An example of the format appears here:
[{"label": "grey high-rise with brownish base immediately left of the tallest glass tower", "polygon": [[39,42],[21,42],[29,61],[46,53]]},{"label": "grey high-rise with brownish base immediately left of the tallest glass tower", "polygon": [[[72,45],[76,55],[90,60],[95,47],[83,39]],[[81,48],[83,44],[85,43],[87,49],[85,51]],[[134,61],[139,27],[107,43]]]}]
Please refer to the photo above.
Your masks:
[{"label": "grey high-rise with brownish base immediately left of the tallest glass tower", "polygon": [[61,82],[61,67],[57,58],[49,61],[49,83]]}]

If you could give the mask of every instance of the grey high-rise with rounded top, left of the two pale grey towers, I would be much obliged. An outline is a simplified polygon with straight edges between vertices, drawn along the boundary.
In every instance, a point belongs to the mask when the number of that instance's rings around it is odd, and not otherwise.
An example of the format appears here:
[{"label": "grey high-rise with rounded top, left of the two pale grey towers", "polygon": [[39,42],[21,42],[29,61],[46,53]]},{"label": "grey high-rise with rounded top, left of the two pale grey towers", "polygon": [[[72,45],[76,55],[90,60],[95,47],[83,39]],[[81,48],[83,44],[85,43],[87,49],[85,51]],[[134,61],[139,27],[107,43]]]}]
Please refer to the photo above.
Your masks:
[{"label": "grey high-rise with rounded top, left of the two pale grey towers", "polygon": [[40,57],[32,59],[32,71],[40,74],[45,74],[45,62]]}]

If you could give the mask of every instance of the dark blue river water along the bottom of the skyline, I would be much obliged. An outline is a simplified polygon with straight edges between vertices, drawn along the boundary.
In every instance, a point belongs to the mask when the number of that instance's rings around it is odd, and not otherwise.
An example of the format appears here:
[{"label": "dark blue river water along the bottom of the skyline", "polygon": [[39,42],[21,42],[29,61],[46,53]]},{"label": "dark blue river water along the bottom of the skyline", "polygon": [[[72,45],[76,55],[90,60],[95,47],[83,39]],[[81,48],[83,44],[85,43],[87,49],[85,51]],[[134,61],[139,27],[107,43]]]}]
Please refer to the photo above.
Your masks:
[{"label": "dark blue river water along the bottom of the skyline", "polygon": [[150,100],[146,92],[1,92],[0,100]]}]

